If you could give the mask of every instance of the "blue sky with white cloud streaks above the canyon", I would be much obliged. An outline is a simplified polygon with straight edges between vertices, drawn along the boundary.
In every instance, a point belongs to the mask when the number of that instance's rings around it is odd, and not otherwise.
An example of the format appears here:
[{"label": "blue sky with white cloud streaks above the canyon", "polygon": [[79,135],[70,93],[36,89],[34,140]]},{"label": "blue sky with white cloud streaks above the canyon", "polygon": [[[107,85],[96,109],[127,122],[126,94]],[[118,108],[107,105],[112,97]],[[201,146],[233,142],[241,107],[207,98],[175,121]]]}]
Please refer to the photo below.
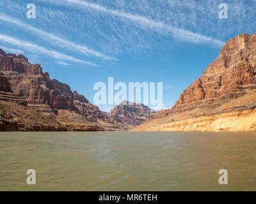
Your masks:
[{"label": "blue sky with white cloud streaks above the canyon", "polygon": [[[27,17],[29,3],[36,18]],[[228,18],[219,17],[221,3]],[[91,103],[93,86],[108,77],[163,82],[163,108],[171,108],[227,40],[255,33],[255,8],[256,0],[4,0],[0,48],[41,64]]]}]

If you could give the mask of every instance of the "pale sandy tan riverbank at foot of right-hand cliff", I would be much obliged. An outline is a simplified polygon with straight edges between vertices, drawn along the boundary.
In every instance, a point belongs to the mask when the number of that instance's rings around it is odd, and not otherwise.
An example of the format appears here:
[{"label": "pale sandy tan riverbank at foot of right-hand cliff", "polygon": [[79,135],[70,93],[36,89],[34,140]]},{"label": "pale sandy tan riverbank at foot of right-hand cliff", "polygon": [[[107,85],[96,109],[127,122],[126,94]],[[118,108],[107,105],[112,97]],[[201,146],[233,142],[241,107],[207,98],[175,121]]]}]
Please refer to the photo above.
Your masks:
[{"label": "pale sandy tan riverbank at foot of right-hand cliff", "polygon": [[[162,119],[163,120],[163,119]],[[207,115],[164,124],[161,119],[148,121],[131,131],[156,132],[231,132],[256,131],[256,108]],[[160,125],[159,125],[160,124]]]}]

